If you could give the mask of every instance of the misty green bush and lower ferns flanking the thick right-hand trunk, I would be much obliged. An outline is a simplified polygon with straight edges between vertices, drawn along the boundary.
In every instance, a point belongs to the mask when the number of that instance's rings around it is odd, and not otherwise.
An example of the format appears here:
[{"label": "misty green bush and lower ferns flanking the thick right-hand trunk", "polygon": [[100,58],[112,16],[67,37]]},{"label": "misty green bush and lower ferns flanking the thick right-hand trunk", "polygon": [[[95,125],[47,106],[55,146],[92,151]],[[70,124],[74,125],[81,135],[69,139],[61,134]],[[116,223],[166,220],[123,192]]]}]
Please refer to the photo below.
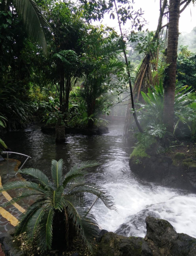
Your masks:
[{"label": "misty green bush and lower ferns flanking the thick right-hand trunk", "polygon": [[[160,140],[165,138],[166,135],[173,137],[172,134],[166,131],[166,126],[163,124],[164,89],[162,83],[160,82],[158,86],[148,89],[148,93],[141,93],[144,103],[138,103],[140,108],[137,110],[137,116],[145,129],[143,133],[134,131],[134,136],[137,138],[136,146],[142,146],[145,149],[153,144],[154,149],[160,152],[160,148],[164,146],[160,144]],[[173,134],[175,136],[183,135],[183,137],[188,135],[195,139],[196,93],[191,90],[191,86],[183,86],[176,90],[174,110],[175,127]],[[161,143],[165,144],[164,139]]]}]

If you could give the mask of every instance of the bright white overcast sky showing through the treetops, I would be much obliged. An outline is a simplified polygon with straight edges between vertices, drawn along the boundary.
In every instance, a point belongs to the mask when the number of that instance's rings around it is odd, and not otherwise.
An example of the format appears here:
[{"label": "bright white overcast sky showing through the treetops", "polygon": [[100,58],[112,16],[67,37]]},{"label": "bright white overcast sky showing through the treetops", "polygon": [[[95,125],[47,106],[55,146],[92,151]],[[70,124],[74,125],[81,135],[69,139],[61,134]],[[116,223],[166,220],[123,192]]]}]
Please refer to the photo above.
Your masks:
[{"label": "bright white overcast sky showing through the treetops", "polygon": [[[148,25],[146,25],[145,28],[148,28],[149,30],[156,30],[159,19],[159,0],[135,0],[134,9],[136,10],[140,8],[144,11],[144,18],[148,22]],[[116,27],[116,30],[118,30],[116,18],[113,20],[110,19],[109,16],[106,16],[102,21],[102,24],[109,27]],[[127,26],[128,24],[126,27]],[[194,7],[191,3],[190,6],[188,6],[180,15],[179,32],[189,33],[193,27],[196,27],[196,6]]]}]

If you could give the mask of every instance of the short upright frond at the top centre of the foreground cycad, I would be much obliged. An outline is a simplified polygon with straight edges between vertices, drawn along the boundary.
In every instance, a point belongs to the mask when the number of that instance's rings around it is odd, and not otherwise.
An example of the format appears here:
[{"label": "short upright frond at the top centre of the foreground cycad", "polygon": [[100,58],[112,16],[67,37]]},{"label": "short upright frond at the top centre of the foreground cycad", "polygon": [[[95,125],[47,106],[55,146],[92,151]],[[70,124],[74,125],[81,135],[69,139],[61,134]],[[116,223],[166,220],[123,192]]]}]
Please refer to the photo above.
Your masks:
[{"label": "short upright frond at the top centre of the foreground cycad", "polygon": [[53,181],[57,188],[62,184],[62,181],[63,181],[62,166],[63,166],[62,159],[60,159],[58,162],[56,160],[52,160],[51,173],[52,173]]}]

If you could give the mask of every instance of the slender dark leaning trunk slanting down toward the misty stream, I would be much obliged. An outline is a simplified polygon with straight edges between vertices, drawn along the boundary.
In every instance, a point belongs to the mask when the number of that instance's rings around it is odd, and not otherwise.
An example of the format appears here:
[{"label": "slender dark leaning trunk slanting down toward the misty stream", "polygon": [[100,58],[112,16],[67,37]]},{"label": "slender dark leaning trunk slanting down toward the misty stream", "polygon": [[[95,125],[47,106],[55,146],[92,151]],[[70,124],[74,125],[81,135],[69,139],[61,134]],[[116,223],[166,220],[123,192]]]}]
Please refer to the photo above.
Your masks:
[{"label": "slender dark leaning trunk slanting down toward the misty stream", "polygon": [[[118,18],[118,25],[119,25],[119,28],[120,28],[120,33],[121,33],[121,37],[122,37],[122,40],[123,40],[123,32],[122,32],[122,28],[121,28],[121,24],[120,24],[120,18],[119,18],[119,15],[118,15],[118,9],[117,9],[117,6],[116,6],[116,1],[114,1],[114,4],[115,4],[115,9],[116,9],[116,14],[117,14],[117,18]],[[132,91],[132,84],[131,84],[131,74],[130,74],[130,71],[129,71],[129,64],[128,64],[128,60],[127,60],[127,56],[126,56],[126,51],[125,51],[125,47],[123,47],[123,52],[124,52],[124,55],[125,55],[125,63],[126,63],[126,66],[127,66],[127,74],[128,74],[128,78],[129,78],[129,88],[130,88],[130,93],[131,93],[131,104],[132,104],[132,109],[133,109],[133,116],[134,116],[134,119],[135,119],[135,123],[137,125],[137,128],[140,132],[143,132],[143,129],[137,119],[137,116],[136,116],[136,112],[135,112],[135,107],[134,107],[134,96],[133,96],[133,91]]]}]

